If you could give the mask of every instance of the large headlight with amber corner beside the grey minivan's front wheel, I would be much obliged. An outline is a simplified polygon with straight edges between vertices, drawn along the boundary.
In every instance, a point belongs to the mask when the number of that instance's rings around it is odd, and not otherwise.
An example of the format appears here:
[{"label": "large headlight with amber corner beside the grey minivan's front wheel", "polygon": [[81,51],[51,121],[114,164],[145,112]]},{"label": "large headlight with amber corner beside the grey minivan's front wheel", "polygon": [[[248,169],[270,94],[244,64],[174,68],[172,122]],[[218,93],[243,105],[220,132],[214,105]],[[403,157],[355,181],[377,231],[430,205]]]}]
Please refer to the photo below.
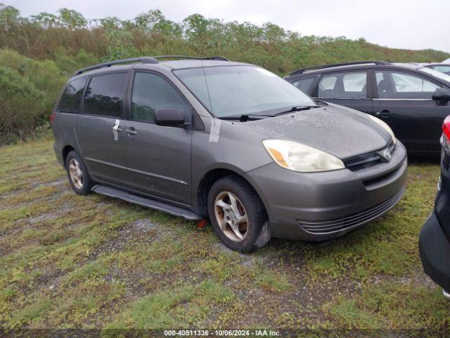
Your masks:
[{"label": "large headlight with amber corner beside the grey minivan's front wheel", "polygon": [[262,143],[271,158],[278,165],[289,170],[313,173],[345,168],[339,158],[311,146],[283,139],[265,139]]}]

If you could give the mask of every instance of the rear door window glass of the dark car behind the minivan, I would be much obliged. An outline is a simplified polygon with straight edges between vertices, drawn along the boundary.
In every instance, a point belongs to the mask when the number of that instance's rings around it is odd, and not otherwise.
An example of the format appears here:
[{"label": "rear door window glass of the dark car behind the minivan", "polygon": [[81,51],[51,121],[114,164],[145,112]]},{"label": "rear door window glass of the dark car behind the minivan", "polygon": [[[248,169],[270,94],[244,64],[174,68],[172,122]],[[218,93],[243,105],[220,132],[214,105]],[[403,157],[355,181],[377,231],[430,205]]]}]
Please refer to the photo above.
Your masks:
[{"label": "rear door window glass of the dark car behind the minivan", "polygon": [[318,94],[323,99],[367,99],[367,73],[325,75],[319,82]]}]

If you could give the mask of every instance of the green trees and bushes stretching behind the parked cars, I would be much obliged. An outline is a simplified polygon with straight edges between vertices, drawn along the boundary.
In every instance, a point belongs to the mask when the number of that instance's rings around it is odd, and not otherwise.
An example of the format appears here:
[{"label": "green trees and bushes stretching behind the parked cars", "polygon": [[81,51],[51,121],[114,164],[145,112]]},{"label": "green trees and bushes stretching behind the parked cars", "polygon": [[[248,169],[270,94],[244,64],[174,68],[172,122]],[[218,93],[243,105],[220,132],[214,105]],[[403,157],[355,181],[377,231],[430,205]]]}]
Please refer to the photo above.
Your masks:
[{"label": "green trees and bushes stretching behind the parked cars", "polygon": [[0,144],[34,136],[77,68],[119,58],[179,54],[224,56],[278,75],[323,63],[436,62],[450,56],[432,49],[390,49],[363,38],[304,36],[273,23],[224,22],[200,14],[175,23],[159,10],[121,20],[87,19],[61,8],[25,18],[17,8],[0,3]]}]

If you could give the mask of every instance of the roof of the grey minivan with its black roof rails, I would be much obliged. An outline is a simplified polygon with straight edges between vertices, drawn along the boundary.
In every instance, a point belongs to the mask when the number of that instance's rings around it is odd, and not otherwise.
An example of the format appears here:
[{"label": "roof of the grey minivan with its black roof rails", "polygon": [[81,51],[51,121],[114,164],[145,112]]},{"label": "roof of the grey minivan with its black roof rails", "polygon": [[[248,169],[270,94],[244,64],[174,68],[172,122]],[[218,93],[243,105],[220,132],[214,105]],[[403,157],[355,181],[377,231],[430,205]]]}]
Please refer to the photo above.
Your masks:
[{"label": "roof of the grey minivan with its black roof rails", "polygon": [[[142,58],[147,59],[147,58]],[[150,59],[150,58],[148,58]],[[133,60],[133,59],[129,59]],[[135,59],[137,60],[137,58]],[[71,79],[77,77],[84,77],[86,75],[96,75],[103,73],[117,72],[120,70],[129,69],[148,69],[148,70],[179,70],[188,68],[205,68],[205,67],[219,67],[219,66],[236,66],[236,65],[250,65],[250,63],[241,63],[233,61],[224,60],[210,60],[210,59],[183,59],[183,60],[169,60],[169,61],[156,61],[153,62],[143,62],[139,61],[133,63],[119,63],[119,61],[112,61],[110,65],[108,63],[103,63],[99,65],[94,65],[88,68],[83,68],[78,70]],[[125,60],[126,61],[126,60]],[[145,60],[144,60],[145,61]]]}]

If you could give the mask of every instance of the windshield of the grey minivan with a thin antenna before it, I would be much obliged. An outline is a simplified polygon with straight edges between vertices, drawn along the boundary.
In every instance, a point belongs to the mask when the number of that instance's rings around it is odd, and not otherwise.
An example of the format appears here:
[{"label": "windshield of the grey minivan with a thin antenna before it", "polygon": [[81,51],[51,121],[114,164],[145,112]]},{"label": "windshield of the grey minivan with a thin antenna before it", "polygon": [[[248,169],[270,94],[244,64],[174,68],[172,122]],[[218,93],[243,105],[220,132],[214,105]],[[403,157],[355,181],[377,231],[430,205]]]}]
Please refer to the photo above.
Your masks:
[{"label": "windshield of the grey minivan with a thin antenna before it", "polygon": [[281,77],[250,65],[189,68],[174,73],[218,118],[270,115],[316,102]]}]

